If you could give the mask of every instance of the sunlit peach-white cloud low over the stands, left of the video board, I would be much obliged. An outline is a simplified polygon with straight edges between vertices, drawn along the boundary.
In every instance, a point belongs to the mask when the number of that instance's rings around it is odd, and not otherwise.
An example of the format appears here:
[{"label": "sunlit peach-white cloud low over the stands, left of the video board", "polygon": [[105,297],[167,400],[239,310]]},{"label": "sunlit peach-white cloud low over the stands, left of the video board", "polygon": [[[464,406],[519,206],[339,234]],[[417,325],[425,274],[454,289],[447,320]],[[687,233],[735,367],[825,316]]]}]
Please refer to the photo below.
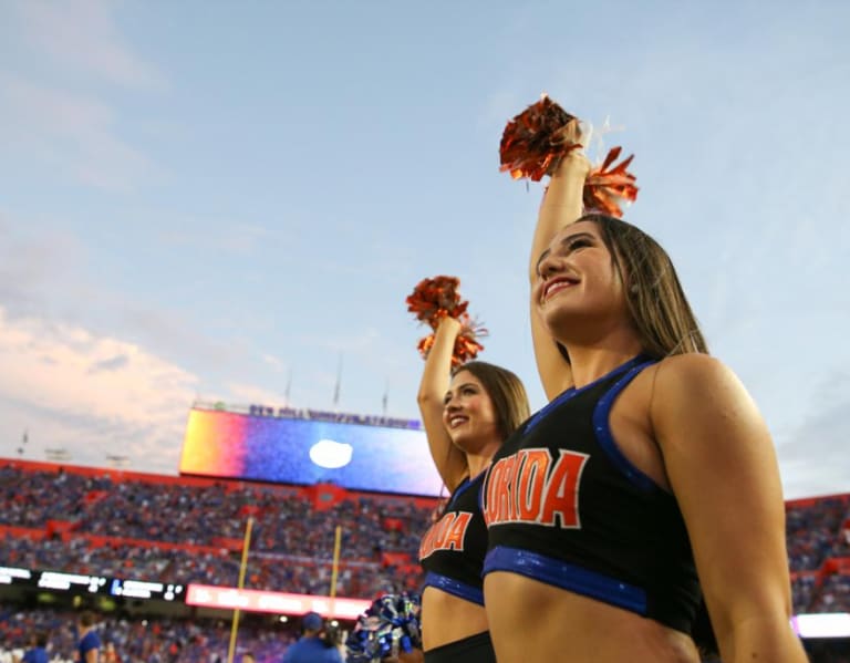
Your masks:
[{"label": "sunlit peach-white cloud low over the stands, left of the video board", "polygon": [[121,453],[135,469],[176,472],[198,382],[183,367],[81,327],[10,319],[2,308],[0,364],[6,439],[28,428],[33,445],[68,448],[72,463],[103,465]]}]

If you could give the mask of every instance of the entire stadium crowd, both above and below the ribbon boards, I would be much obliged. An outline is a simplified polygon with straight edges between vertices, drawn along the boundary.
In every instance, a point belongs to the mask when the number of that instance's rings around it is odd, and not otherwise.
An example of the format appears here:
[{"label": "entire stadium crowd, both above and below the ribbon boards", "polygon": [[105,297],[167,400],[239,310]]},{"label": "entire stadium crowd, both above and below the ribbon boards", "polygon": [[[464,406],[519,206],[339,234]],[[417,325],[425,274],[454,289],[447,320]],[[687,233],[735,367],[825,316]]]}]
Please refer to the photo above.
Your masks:
[{"label": "entire stadium crowd, both above and below the ribbon boards", "polygon": [[[0,532],[0,566],[234,587],[251,516],[246,587],[328,594],[340,525],[336,593],[371,599],[418,588],[416,551],[433,515],[433,501],[392,496],[344,493],[318,505],[309,490],[291,486],[116,478],[10,462],[0,465],[0,526],[24,533]],[[850,612],[850,496],[789,504],[787,543],[795,612]],[[23,646],[44,625],[54,657],[62,657],[73,645],[69,614],[3,607],[0,642]],[[229,638],[229,626],[209,620],[106,618],[102,630],[118,660],[154,663],[215,663]],[[294,636],[292,624],[247,625],[240,651],[260,663],[278,661]],[[812,642],[809,649],[818,652],[812,660],[850,660],[841,657],[842,646]]]}]

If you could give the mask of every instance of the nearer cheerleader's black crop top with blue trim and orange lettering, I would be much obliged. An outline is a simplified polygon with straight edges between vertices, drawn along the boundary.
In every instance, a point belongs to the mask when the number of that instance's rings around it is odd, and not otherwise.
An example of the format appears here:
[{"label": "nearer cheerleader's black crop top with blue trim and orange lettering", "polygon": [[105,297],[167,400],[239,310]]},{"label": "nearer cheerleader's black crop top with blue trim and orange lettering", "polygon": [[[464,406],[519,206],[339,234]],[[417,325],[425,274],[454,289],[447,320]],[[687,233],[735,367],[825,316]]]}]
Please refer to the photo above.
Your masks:
[{"label": "nearer cheerleader's black crop top with blue trim and orange lettering", "polygon": [[635,358],[564,392],[497,452],[484,573],[528,576],[690,633],[701,592],[682,512],[609,427],[616,396],[652,363]]}]

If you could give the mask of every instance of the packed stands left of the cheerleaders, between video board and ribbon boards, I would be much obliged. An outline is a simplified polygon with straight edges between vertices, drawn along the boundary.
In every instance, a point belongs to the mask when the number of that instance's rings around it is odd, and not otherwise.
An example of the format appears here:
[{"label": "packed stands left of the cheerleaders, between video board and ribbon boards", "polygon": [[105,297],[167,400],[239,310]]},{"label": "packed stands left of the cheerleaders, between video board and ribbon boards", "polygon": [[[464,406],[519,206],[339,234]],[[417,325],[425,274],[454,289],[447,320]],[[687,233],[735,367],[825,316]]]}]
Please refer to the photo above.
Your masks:
[{"label": "packed stands left of the cheerleaders, between video board and ribbon boards", "polygon": [[317,495],[239,481],[0,467],[7,563],[114,576],[132,570],[165,582],[235,586],[250,516],[246,587],[328,594],[339,524],[339,594],[414,589],[418,540],[434,507],[434,500],[336,487]]}]

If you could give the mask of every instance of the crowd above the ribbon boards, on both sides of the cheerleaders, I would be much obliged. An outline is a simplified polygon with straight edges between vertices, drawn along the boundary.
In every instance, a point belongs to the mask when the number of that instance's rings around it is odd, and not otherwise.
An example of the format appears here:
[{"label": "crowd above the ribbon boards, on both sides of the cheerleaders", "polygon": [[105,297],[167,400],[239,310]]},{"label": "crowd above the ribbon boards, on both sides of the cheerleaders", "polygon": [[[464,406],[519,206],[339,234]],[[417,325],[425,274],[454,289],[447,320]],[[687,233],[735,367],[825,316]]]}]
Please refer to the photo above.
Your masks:
[{"label": "crowd above the ribbon boards, on both sides of the cheerleaders", "polygon": [[[0,467],[0,524],[43,529],[50,521],[62,521],[70,524],[72,535],[43,542],[10,537],[3,543],[10,563],[113,576],[132,570],[166,582],[235,584],[239,557],[221,541],[240,541],[247,515],[252,515],[248,586],[326,593],[334,527],[341,524],[341,594],[370,598],[390,588],[412,589],[419,578],[411,568],[432,512],[391,497],[352,494],[320,510],[293,487],[115,481],[108,474]],[[795,609],[850,610],[848,576],[820,573],[826,560],[850,557],[847,497],[789,505],[787,520]],[[111,537],[111,543],[94,545],[89,536]],[[201,550],[157,543],[188,543]]]}]

